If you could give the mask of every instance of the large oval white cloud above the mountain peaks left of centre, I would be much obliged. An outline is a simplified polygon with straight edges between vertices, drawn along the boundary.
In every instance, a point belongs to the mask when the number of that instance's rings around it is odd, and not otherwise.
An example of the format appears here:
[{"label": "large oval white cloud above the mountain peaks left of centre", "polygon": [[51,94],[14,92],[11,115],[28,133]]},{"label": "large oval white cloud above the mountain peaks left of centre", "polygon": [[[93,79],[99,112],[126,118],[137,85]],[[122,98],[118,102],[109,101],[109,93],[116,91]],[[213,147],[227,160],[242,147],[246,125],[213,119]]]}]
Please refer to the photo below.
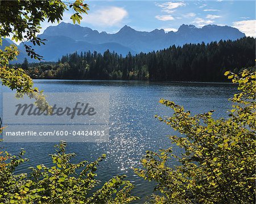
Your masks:
[{"label": "large oval white cloud above the mountain peaks left of centre", "polygon": [[82,21],[92,25],[109,27],[118,25],[126,16],[128,16],[128,12],[124,8],[111,6],[89,13]]}]

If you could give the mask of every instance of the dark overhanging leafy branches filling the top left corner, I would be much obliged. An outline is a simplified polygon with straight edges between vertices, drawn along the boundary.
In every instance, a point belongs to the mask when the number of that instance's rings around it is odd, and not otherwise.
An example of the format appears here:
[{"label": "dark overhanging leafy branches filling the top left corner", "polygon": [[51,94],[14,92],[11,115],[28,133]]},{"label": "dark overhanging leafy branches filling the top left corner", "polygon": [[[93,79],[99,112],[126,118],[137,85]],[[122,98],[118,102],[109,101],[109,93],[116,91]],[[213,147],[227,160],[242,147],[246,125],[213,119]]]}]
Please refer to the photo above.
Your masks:
[{"label": "dark overhanging leafy branches filling the top left corner", "polygon": [[[30,41],[34,45],[44,44],[44,40],[37,37],[40,23],[47,20],[54,23],[62,20],[63,13],[69,8],[73,9],[74,14],[71,16],[73,23],[80,23],[81,14],[87,14],[88,5],[82,0],[76,0],[74,3],[60,0],[50,1],[0,1],[0,45],[2,37],[13,36],[12,40]],[[24,44],[26,52],[31,58],[42,59],[35,53],[30,45]]]}]

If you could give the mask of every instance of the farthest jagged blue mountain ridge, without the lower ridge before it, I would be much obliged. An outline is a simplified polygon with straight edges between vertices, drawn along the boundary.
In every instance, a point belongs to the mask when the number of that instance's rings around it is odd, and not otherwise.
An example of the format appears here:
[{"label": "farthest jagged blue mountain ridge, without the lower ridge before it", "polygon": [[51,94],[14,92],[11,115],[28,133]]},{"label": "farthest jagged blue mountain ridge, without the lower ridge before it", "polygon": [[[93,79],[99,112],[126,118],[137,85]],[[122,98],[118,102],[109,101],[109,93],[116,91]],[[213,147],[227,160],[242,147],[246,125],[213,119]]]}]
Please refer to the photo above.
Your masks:
[{"label": "farthest jagged blue mountain ridge, without the lower ridge before it", "polygon": [[99,33],[88,27],[60,23],[57,26],[48,27],[43,35],[71,37],[74,40],[86,41],[92,44],[105,42],[117,42],[135,52],[151,52],[168,48],[172,45],[184,45],[186,43],[201,43],[220,40],[237,40],[245,37],[245,34],[237,28],[219,25],[205,25],[203,28],[196,28],[195,25],[181,25],[177,32],[164,32],[163,29],[155,29],[151,32],[136,31],[125,25],[117,33]]}]

